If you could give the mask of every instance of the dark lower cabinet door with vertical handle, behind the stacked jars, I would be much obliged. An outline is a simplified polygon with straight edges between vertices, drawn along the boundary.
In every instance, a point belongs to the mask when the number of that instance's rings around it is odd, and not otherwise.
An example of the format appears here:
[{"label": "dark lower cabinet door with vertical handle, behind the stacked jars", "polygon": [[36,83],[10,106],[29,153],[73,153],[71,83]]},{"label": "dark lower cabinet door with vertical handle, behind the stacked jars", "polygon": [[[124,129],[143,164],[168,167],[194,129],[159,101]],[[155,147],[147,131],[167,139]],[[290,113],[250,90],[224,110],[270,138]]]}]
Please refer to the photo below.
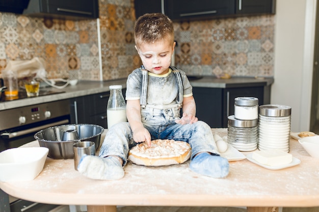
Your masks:
[{"label": "dark lower cabinet door with vertical handle, behind the stacked jars", "polygon": [[264,87],[225,88],[223,90],[223,128],[227,128],[228,116],[234,114],[237,97],[255,97],[258,98],[258,105],[263,105]]}]

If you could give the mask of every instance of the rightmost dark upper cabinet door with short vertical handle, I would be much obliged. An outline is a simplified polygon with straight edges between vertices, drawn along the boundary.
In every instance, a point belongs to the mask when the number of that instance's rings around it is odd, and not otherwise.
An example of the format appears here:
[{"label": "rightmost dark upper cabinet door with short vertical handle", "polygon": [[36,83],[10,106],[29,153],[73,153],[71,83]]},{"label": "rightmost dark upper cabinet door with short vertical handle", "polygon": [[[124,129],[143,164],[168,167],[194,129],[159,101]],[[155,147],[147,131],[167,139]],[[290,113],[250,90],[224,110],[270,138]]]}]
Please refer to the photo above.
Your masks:
[{"label": "rightmost dark upper cabinet door with short vertical handle", "polygon": [[276,0],[235,0],[236,14],[274,14]]}]

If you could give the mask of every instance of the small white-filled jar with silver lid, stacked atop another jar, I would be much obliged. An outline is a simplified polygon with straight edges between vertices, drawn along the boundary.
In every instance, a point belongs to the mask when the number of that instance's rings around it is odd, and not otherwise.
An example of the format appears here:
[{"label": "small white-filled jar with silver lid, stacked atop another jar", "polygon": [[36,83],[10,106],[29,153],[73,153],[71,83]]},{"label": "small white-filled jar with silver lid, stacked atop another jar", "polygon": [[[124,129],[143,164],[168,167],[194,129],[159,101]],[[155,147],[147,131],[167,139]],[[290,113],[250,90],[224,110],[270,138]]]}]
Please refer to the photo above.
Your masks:
[{"label": "small white-filled jar with silver lid, stacked atop another jar", "polygon": [[254,97],[237,97],[235,98],[234,110],[236,119],[258,119],[258,99]]}]

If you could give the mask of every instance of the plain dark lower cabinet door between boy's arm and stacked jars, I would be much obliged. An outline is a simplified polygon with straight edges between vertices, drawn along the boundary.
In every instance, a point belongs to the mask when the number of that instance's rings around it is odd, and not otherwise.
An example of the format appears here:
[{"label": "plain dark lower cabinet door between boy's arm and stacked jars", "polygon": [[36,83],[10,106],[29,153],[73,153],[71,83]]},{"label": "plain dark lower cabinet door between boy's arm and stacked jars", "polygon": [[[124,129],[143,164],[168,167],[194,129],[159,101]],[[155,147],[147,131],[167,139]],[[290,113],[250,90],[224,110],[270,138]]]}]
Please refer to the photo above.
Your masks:
[{"label": "plain dark lower cabinet door between boy's arm and stacked jars", "polygon": [[222,95],[222,88],[193,87],[196,117],[211,128],[221,128],[223,124]]}]

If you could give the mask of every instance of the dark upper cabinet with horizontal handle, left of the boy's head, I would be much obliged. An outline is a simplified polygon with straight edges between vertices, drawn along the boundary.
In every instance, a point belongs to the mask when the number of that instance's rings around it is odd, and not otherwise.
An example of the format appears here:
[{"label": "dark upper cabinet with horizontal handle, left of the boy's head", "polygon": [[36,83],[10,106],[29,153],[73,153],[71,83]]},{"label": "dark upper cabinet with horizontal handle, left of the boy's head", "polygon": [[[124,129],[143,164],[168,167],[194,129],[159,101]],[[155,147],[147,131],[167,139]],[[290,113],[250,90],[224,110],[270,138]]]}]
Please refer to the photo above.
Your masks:
[{"label": "dark upper cabinet with horizontal handle, left of the boy's head", "polygon": [[30,0],[23,14],[53,18],[98,18],[98,0]]}]

